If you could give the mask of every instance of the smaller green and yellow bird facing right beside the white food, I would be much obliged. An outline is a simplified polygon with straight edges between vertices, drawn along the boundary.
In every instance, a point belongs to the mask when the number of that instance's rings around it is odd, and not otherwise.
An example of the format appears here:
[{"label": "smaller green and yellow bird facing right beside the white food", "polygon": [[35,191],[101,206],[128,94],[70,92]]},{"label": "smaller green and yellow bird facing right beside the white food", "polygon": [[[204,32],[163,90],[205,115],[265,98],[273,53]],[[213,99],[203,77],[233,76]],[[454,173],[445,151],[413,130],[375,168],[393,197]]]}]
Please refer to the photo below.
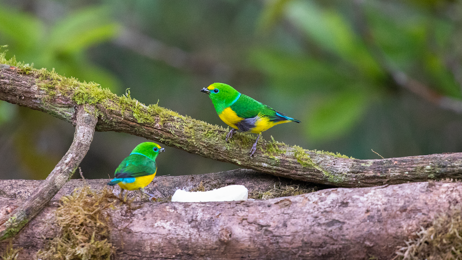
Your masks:
[{"label": "smaller green and yellow bird facing right beside the white food", "polygon": [[[132,153],[119,164],[119,167],[117,167],[114,173],[114,179],[109,181],[108,185],[113,186],[118,184],[121,188],[121,197],[123,190],[140,190],[140,192],[149,196],[150,201],[152,201],[152,199],[157,201],[157,198],[153,194],[144,191],[144,187],[150,184],[154,176],[156,176],[156,158],[157,155],[163,151],[164,148],[161,148],[157,143],[140,143],[133,149]],[[127,194],[128,192],[125,193],[124,201],[127,200]]]}]

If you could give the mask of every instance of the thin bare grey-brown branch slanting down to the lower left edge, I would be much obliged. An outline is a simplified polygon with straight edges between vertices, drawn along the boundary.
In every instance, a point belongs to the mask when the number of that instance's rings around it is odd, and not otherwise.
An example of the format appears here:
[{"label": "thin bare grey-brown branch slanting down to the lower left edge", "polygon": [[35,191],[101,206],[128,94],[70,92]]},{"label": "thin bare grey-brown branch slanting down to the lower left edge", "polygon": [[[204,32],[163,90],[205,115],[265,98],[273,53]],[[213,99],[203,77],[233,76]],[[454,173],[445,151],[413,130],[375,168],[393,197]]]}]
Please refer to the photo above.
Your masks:
[{"label": "thin bare grey-brown branch slanting down to the lower left edge", "polygon": [[0,218],[0,241],[16,234],[38,214],[55,194],[71,178],[75,169],[85,157],[93,140],[97,117],[93,105],[78,105],[76,118],[71,121],[76,125],[74,140],[61,161],[48,175],[47,179],[11,214]]}]

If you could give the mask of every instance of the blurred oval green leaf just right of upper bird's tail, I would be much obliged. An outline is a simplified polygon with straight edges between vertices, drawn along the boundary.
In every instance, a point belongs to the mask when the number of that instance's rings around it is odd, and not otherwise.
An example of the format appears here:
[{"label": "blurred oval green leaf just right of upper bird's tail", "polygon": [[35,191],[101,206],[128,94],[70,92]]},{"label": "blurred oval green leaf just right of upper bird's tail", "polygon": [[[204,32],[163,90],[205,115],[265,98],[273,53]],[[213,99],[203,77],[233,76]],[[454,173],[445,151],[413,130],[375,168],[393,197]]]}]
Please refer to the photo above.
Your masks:
[{"label": "blurred oval green leaf just right of upper bird's tail", "polygon": [[340,137],[365,114],[370,98],[364,91],[344,91],[324,100],[307,117],[307,134],[312,142]]}]

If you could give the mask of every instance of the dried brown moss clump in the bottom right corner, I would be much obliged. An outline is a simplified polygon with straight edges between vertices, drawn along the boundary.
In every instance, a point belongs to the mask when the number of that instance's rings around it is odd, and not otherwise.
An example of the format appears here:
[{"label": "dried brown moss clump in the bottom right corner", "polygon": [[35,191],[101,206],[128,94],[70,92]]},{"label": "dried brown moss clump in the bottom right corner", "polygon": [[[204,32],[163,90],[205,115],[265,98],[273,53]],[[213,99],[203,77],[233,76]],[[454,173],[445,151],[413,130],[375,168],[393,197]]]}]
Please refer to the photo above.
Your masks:
[{"label": "dried brown moss clump in the bottom right corner", "polygon": [[401,260],[462,260],[462,210],[444,212],[396,254]]}]

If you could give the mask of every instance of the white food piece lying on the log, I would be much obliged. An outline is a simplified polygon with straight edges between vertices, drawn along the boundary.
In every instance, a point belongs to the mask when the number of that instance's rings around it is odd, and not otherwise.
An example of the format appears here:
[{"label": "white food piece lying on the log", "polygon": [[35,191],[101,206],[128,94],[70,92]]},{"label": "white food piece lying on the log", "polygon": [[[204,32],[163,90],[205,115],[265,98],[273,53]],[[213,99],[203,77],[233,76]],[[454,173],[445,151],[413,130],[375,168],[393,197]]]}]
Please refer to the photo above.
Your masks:
[{"label": "white food piece lying on the log", "polygon": [[249,191],[243,185],[230,185],[207,192],[187,192],[176,190],[172,201],[176,202],[207,202],[247,200]]}]

